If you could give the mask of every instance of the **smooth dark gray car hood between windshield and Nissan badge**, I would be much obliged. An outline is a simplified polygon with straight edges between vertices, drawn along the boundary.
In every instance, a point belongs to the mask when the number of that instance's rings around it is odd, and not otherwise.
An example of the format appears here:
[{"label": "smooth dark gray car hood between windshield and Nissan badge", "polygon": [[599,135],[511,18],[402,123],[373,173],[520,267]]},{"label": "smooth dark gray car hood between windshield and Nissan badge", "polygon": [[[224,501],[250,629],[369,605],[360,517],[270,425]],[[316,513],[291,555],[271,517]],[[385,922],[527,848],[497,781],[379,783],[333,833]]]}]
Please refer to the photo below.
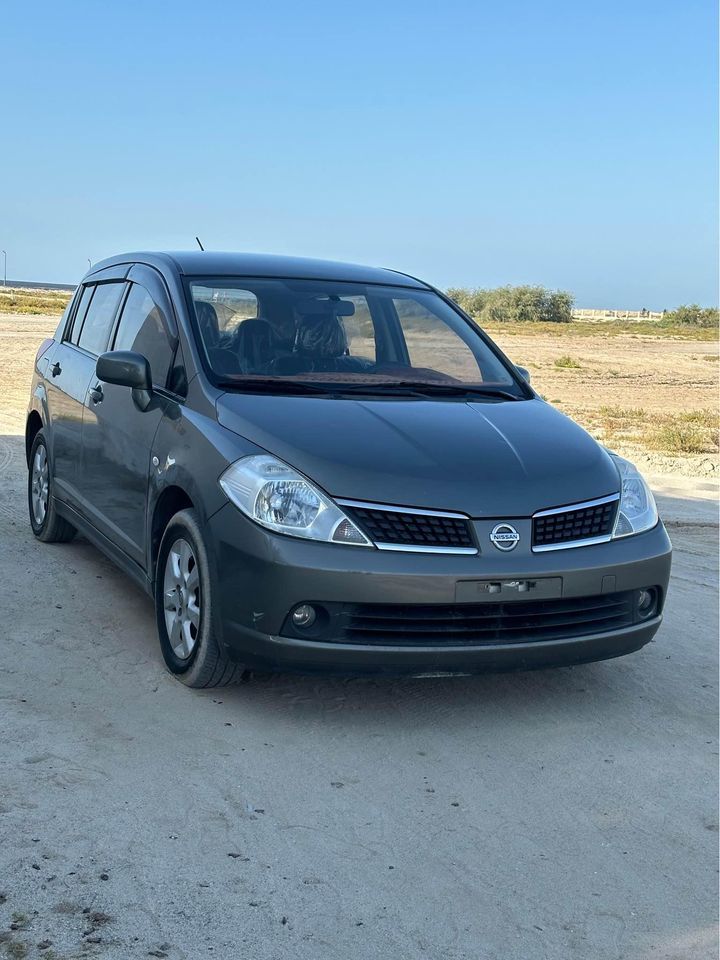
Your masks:
[{"label": "smooth dark gray car hood between windshield and Nissan badge", "polygon": [[523,517],[618,491],[607,452],[539,399],[326,399],[225,393],[218,421],[334,497]]}]

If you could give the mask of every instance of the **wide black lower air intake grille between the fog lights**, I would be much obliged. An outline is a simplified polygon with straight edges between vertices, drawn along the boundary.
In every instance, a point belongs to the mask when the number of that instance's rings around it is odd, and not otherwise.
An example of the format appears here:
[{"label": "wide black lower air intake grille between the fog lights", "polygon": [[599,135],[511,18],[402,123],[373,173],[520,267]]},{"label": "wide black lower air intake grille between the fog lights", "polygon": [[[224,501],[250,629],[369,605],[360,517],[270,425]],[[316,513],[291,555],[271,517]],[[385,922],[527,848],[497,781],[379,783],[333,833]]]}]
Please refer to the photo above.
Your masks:
[{"label": "wide black lower air intake grille between the fog lights", "polygon": [[634,594],[447,606],[346,605],[333,640],[388,646],[533,643],[630,626]]}]

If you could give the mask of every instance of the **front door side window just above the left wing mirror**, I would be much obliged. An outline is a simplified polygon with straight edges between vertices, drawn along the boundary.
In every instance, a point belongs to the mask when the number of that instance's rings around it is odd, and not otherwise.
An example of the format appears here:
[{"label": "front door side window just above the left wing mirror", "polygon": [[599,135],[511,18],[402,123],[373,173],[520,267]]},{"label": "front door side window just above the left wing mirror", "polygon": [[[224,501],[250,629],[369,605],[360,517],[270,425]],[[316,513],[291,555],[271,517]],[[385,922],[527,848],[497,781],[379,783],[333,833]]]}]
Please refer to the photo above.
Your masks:
[{"label": "front door side window just above the left wing mirror", "polygon": [[113,350],[134,350],[147,357],[153,383],[164,387],[174,348],[164,310],[145,287],[134,283],[123,307]]}]

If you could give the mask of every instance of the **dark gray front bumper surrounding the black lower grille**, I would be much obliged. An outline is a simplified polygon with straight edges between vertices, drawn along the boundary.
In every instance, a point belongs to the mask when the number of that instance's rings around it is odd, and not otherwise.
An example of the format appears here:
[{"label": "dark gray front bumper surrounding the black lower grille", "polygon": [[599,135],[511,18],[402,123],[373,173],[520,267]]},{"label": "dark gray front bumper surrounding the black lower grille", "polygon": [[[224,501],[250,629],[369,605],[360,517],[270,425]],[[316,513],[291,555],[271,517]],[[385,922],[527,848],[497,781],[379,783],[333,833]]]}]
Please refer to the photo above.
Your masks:
[{"label": "dark gray front bumper surrounding the black lower grille", "polygon": [[[217,629],[228,654],[248,667],[335,673],[474,673],[602,660],[648,643],[662,621],[671,544],[653,530],[572,550],[477,556],[383,552],[272,534],[231,504],[208,522]],[[483,538],[478,538],[481,544]],[[457,604],[473,581],[560,578],[561,596],[592,597],[656,587],[652,618],[580,637],[473,646],[340,643],[283,636],[298,604]],[[471,591],[470,591],[471,593]],[[522,604],[522,599],[516,601]]]}]

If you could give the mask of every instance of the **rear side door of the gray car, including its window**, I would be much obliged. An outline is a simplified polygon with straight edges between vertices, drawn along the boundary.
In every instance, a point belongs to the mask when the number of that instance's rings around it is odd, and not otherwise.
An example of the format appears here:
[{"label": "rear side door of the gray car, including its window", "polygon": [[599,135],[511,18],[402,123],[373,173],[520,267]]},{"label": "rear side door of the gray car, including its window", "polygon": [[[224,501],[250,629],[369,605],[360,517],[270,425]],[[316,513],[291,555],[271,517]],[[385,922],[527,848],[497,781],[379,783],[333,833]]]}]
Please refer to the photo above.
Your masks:
[{"label": "rear side door of the gray car, including its window", "polygon": [[93,278],[82,285],[46,373],[54,493],[76,508],[82,501],[78,479],[85,398],[96,350],[102,352],[108,343],[123,289],[122,280],[103,275],[99,282]]}]

